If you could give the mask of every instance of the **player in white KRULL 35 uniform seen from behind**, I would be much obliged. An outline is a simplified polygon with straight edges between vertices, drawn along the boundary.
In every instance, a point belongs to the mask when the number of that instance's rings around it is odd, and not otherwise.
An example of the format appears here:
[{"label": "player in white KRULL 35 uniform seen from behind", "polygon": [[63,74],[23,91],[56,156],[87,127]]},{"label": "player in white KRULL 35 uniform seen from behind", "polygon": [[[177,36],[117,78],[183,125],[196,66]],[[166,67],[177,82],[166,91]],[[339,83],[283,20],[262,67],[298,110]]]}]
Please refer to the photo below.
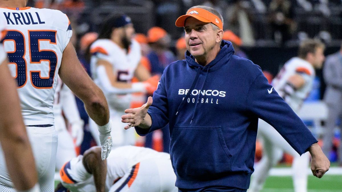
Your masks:
[{"label": "player in white KRULL 35 uniform seen from behind", "polygon": [[[54,190],[57,133],[53,99],[57,74],[83,100],[89,116],[98,124],[102,159],[111,150],[111,125],[106,99],[80,65],[69,43],[68,17],[60,11],[25,7],[26,0],[0,0],[0,20],[6,24],[3,41],[9,68],[17,81],[22,115],[35,157],[41,191]],[[0,153],[0,164],[4,163]],[[0,191],[14,191],[7,170],[0,166]]]}]

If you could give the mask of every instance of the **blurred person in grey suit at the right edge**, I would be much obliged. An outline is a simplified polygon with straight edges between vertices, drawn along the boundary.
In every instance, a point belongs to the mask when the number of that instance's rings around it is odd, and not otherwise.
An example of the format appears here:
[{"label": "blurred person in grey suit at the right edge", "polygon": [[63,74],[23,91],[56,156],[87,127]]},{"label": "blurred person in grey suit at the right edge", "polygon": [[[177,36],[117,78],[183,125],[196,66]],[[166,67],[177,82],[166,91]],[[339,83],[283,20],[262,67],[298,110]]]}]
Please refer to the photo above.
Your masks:
[{"label": "blurred person in grey suit at the right edge", "polygon": [[[323,137],[323,152],[329,157],[334,137],[336,122],[342,115],[342,46],[337,53],[329,55],[323,69],[324,80],[327,89],[324,94],[324,101],[328,106],[328,119],[326,121],[326,130]],[[340,133],[342,133],[342,124],[340,124]],[[342,137],[341,137],[342,139]],[[339,147],[339,163],[342,166],[342,146]]]}]

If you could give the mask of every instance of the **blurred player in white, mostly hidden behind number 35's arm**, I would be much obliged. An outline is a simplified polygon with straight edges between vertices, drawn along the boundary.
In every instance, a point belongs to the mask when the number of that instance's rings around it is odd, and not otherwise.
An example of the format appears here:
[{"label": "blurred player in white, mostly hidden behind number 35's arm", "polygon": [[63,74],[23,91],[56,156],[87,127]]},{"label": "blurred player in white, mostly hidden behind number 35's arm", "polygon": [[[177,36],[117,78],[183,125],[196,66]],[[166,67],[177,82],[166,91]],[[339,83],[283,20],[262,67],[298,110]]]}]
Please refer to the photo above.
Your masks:
[{"label": "blurred player in white, mostly hidden behind number 35's arm", "polygon": [[[63,114],[62,114],[63,111]],[[63,164],[76,157],[75,146],[79,147],[83,141],[83,120],[78,112],[75,95],[58,76],[55,98],[53,102],[55,128],[58,134],[58,147],[56,154],[56,169],[60,170]],[[67,124],[64,120],[67,120]],[[67,130],[71,127],[71,135]],[[74,144],[75,139],[75,144]]]}]

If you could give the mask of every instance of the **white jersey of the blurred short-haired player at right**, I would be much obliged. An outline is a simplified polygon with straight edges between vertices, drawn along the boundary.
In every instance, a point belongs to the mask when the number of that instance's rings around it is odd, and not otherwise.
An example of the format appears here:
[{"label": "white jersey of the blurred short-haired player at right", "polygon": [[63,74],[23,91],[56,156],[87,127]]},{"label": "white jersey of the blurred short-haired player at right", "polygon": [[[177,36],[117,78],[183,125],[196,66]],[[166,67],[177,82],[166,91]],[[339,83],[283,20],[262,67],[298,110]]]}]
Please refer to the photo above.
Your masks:
[{"label": "white jersey of the blurred short-haired player at right", "polygon": [[315,69],[306,60],[293,57],[288,60],[282,67],[277,77],[272,81],[272,85],[276,91],[284,89],[288,79],[294,74],[300,74],[305,84],[290,96],[289,100],[286,100],[287,104],[292,108],[293,111],[297,112],[304,99],[310,94],[312,90],[313,81],[315,78]]}]

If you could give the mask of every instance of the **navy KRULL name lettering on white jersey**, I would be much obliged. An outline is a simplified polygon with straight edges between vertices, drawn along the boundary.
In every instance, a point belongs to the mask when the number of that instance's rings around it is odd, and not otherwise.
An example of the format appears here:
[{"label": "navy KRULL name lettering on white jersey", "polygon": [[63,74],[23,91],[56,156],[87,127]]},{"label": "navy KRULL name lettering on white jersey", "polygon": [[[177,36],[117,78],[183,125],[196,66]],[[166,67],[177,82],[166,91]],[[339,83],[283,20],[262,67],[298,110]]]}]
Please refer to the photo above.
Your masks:
[{"label": "navy KRULL name lettering on white jersey", "polygon": [[40,16],[37,12],[35,14],[31,14],[30,12],[21,12],[21,13],[12,13],[12,12],[3,12],[6,17],[8,25],[37,25],[37,24],[45,24],[44,21],[40,19]]}]

